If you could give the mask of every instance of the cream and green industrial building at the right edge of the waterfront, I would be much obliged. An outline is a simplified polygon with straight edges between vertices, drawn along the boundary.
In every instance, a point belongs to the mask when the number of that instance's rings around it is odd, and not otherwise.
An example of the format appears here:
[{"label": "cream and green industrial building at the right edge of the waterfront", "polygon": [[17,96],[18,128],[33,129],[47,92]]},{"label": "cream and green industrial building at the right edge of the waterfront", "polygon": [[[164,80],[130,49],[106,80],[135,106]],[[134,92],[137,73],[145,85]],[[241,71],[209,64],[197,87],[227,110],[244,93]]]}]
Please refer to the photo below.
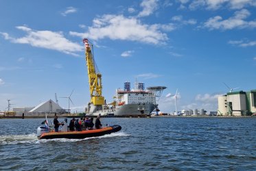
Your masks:
[{"label": "cream and green industrial building at the right edge of the waterfront", "polygon": [[229,92],[218,97],[218,115],[248,116],[256,112],[256,90]]}]

